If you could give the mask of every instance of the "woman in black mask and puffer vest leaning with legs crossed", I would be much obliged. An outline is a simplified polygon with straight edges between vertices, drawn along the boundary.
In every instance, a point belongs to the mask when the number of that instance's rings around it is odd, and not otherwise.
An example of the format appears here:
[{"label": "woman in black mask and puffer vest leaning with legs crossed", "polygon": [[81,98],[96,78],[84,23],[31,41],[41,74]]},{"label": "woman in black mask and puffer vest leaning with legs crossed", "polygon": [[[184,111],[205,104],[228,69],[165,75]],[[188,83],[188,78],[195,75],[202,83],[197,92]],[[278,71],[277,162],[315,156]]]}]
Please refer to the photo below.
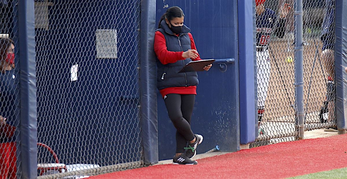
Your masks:
[{"label": "woman in black mask and puffer vest leaning with legs crossed", "polygon": [[[178,73],[185,64],[200,60],[190,29],[183,24],[184,13],[175,6],[169,8],[159,21],[154,36],[157,60],[157,87],[164,99],[170,120],[176,128],[174,164],[197,164],[191,160],[203,137],[191,129],[195,103],[196,72]],[[211,65],[205,66],[208,71]]]}]

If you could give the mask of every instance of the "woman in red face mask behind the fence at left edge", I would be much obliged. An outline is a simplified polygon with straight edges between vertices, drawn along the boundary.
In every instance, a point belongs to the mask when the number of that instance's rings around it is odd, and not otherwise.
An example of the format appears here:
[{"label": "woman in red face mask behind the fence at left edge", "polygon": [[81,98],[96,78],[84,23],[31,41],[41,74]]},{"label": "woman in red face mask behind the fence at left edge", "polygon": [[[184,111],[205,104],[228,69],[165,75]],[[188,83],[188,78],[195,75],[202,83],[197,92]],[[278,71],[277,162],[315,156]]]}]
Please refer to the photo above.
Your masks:
[{"label": "woman in red face mask behind the fence at left edge", "polygon": [[0,38],[0,179],[16,178],[14,48],[11,39]]}]

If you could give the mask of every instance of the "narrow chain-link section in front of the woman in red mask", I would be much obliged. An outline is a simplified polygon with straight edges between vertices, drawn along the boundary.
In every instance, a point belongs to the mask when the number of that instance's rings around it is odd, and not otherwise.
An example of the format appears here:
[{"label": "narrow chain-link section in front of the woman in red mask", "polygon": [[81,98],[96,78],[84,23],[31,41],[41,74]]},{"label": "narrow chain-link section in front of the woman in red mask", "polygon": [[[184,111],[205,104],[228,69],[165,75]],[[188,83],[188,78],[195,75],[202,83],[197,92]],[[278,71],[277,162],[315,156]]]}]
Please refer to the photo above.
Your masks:
[{"label": "narrow chain-link section in front of the woman in red mask", "polygon": [[18,19],[16,1],[0,1],[0,178],[15,179],[20,162]]}]

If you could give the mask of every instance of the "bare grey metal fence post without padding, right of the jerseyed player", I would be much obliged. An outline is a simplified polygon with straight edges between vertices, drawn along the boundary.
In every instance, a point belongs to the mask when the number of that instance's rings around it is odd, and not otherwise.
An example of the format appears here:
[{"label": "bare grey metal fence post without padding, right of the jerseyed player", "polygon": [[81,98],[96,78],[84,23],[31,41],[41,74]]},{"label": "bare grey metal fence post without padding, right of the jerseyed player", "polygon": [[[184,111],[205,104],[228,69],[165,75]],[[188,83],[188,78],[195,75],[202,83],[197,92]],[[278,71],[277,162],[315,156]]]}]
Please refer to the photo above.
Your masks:
[{"label": "bare grey metal fence post without padding, right of the jerseyed player", "polygon": [[299,139],[304,138],[303,0],[295,4],[295,115]]}]

